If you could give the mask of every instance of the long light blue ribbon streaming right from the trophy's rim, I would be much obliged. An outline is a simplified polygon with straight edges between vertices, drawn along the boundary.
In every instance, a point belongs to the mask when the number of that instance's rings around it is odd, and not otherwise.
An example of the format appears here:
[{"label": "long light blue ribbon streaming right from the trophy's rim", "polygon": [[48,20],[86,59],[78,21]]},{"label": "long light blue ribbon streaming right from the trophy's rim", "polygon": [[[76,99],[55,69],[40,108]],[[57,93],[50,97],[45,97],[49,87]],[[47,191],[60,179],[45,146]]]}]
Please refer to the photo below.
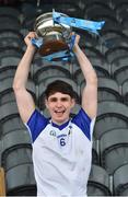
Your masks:
[{"label": "long light blue ribbon streaming right from the trophy's rim", "polygon": [[69,16],[63,16],[61,13],[55,11],[53,11],[53,20],[57,24],[61,24],[61,25],[65,24],[68,26],[82,28],[91,33],[95,33],[97,35],[98,35],[97,31],[101,30],[105,24],[105,21],[95,22],[95,21],[69,18]]}]

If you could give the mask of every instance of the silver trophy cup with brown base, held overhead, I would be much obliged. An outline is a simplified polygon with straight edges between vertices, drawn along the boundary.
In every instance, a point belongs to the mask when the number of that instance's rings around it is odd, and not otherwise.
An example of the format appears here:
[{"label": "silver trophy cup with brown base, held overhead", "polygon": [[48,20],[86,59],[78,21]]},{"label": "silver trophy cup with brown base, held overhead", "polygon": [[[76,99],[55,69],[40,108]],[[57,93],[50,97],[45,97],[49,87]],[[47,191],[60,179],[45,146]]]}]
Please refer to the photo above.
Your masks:
[{"label": "silver trophy cup with brown base, held overhead", "polygon": [[[61,14],[62,16],[68,16]],[[40,56],[47,56],[69,48],[71,27],[65,24],[56,24],[53,12],[37,16],[34,24],[37,36],[43,37],[43,46],[38,49]]]}]

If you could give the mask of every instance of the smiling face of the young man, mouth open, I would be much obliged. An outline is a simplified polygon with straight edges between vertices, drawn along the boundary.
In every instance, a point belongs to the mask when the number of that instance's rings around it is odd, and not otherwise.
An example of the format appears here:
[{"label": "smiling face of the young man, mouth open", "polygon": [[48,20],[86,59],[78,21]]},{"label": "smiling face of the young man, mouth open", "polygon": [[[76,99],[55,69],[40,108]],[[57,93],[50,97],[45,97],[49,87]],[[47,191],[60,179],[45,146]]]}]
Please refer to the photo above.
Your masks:
[{"label": "smiling face of the young man, mouth open", "polygon": [[69,119],[70,111],[74,106],[74,99],[68,94],[57,92],[46,100],[51,120],[56,124],[63,124]]}]

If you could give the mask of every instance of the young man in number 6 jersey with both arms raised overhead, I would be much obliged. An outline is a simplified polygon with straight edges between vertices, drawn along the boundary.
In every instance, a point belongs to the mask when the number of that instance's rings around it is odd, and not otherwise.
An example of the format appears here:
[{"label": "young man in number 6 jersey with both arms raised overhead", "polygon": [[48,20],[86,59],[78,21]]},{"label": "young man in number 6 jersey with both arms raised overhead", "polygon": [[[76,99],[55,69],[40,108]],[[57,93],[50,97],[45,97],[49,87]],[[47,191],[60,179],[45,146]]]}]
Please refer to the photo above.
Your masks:
[{"label": "young man in number 6 jersey with both arms raised overhead", "polygon": [[74,106],[72,88],[55,81],[46,90],[46,107],[51,118],[47,119],[35,107],[26,90],[26,81],[35,47],[31,32],[25,37],[26,51],[19,63],[13,90],[19,112],[33,140],[33,162],[37,196],[86,196],[86,184],[92,160],[92,132],[97,109],[96,73],[79,47],[77,35],[73,51],[86,81],[82,93],[80,112],[71,119]]}]

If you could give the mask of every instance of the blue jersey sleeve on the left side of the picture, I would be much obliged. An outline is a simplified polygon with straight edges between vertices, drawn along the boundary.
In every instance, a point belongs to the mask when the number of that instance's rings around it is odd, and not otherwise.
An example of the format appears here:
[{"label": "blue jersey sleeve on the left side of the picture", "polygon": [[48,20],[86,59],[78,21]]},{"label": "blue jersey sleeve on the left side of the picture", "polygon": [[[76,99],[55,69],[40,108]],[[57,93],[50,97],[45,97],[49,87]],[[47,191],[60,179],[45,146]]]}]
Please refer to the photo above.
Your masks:
[{"label": "blue jersey sleeve on the left side of the picture", "polygon": [[25,124],[28,131],[31,132],[33,142],[36,140],[36,138],[43,131],[47,124],[48,118],[46,118],[37,109],[35,109],[31,115],[28,121]]}]

